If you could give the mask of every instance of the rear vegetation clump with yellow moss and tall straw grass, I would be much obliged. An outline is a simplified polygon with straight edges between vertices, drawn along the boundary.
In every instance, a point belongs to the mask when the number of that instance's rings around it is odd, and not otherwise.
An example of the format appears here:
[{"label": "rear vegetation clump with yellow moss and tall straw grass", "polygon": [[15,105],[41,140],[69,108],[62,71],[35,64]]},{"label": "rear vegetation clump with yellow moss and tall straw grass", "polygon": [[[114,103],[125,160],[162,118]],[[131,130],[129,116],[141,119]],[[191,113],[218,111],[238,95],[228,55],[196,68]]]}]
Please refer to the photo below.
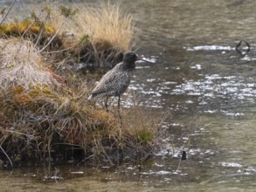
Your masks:
[{"label": "rear vegetation clump with yellow moss and tall straw grass", "polygon": [[72,56],[73,63],[84,63],[89,69],[111,68],[120,62],[130,49],[133,31],[133,18],[110,3],[59,5],[59,9],[46,5],[40,14],[32,10],[23,21],[0,24],[0,37],[30,39],[40,51],[66,53],[64,57]]}]

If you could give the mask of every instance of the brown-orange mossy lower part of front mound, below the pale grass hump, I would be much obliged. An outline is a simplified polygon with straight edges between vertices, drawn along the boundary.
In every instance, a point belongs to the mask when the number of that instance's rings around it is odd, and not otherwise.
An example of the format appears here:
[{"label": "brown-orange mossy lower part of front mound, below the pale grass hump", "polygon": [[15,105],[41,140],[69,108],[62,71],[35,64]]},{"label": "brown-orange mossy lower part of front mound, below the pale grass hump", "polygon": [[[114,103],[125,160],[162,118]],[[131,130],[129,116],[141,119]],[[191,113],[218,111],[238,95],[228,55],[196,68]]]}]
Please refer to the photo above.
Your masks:
[{"label": "brown-orange mossy lower part of front mound, below the pale grass hump", "polygon": [[[0,150],[0,159],[6,163],[8,158],[67,161],[72,156],[93,164],[114,164],[152,154],[154,132],[136,126],[128,129],[113,113],[95,110],[86,99],[77,100],[68,93],[38,86],[1,92],[0,142],[4,153]],[[69,155],[70,149],[80,150],[80,156],[74,152]]]}]

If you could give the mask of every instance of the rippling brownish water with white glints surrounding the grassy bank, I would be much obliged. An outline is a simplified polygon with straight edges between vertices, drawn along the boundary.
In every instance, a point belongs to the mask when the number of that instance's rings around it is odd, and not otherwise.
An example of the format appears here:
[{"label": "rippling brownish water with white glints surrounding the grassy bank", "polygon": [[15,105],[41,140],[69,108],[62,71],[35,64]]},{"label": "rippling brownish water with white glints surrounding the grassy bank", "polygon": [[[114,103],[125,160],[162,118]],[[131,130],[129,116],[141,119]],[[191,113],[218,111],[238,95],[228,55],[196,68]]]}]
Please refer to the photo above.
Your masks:
[{"label": "rippling brownish water with white glints surrounding the grassy bank", "polygon": [[[136,20],[137,53],[156,60],[138,65],[123,105],[132,105],[135,92],[142,106],[170,111],[171,126],[163,127],[170,150],[142,167],[1,170],[3,191],[254,191],[256,2],[121,3]],[[246,57],[235,51],[242,39],[252,46]],[[180,161],[180,150],[186,161]]]}]

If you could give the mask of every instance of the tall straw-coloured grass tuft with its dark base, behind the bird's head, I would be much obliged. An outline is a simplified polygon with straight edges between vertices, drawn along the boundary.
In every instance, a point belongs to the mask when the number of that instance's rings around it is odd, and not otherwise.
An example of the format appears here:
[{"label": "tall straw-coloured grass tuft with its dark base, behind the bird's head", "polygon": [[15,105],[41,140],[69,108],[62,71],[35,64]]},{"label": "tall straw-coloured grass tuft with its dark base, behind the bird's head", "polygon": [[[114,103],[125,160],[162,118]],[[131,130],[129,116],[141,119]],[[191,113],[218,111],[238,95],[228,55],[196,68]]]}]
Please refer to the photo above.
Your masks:
[{"label": "tall straw-coloured grass tuft with its dark base, behind the bird's head", "polygon": [[128,51],[134,22],[130,15],[121,14],[119,5],[102,3],[100,7],[78,6],[80,10],[67,20],[66,31],[79,37],[76,55],[79,61],[105,66],[119,62]]}]

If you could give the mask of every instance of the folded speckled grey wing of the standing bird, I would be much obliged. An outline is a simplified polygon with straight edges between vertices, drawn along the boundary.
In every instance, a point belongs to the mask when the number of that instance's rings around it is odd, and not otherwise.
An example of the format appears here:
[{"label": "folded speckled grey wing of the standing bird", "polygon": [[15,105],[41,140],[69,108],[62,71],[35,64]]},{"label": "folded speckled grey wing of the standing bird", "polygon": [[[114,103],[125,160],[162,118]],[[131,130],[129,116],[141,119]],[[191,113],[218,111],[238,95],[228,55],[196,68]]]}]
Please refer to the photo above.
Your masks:
[{"label": "folded speckled grey wing of the standing bird", "polygon": [[100,79],[99,84],[95,86],[92,94],[94,96],[101,93],[119,94],[120,91],[122,92],[127,89],[129,81],[128,72],[109,71]]}]

